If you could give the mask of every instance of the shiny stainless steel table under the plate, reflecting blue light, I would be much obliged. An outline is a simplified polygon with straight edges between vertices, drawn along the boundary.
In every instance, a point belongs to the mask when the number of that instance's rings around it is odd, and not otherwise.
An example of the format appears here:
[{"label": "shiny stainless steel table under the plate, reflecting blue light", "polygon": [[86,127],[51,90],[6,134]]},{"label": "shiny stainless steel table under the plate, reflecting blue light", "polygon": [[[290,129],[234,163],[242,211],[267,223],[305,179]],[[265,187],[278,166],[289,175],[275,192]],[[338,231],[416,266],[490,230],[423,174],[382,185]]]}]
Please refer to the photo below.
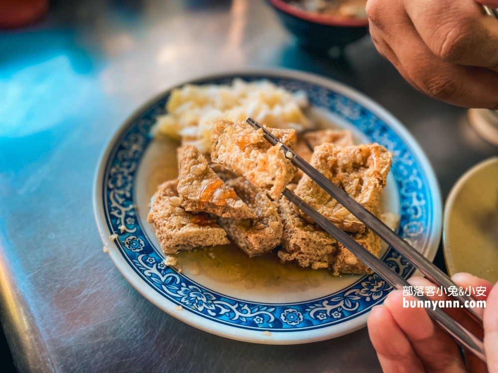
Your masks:
[{"label": "shiny stainless steel table under the plate, reflecting blue light", "polygon": [[370,95],[427,152],[443,197],[497,154],[466,110],[405,83],[367,37],[330,61],[263,1],[54,1],[0,35],[1,321],[21,372],[380,372],[366,329],[297,346],[232,341],[144,299],[102,252],[92,208],[106,141],[173,83],[245,66],[322,74]]}]

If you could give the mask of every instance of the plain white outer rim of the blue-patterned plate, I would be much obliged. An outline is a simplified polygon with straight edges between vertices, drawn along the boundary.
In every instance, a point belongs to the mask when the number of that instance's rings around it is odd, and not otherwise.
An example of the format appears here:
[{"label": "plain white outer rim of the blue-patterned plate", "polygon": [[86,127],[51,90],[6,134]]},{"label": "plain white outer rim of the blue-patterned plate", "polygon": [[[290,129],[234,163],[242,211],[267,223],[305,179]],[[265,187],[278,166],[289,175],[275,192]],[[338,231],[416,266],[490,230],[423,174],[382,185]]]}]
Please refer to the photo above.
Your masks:
[{"label": "plain white outer rim of the blue-patterned plate", "polygon": [[[282,68],[246,68],[246,69],[234,69],[227,70],[224,72],[216,72],[212,74],[203,74],[201,76],[196,76],[193,79],[188,79],[180,83],[173,83],[168,86],[168,88],[162,90],[160,93],[155,94],[153,97],[148,99],[145,103],[140,105],[136,110],[127,116],[126,120],[114,131],[110,140],[107,141],[104,150],[99,158],[97,168],[94,175],[93,184],[93,208],[94,216],[96,219],[99,234],[101,236],[104,246],[109,249],[109,256],[113,261],[114,265],[118,268],[124,278],[146,299],[152,302],[154,305],[167,312],[171,316],[191,325],[198,329],[204,330],[206,332],[216,334],[222,337],[227,337],[231,339],[236,339],[240,341],[262,343],[262,344],[300,344],[316,342],[330,338],[336,338],[345,334],[352,333],[366,326],[367,318],[370,311],[364,314],[348,320],[348,322],[331,325],[323,327],[320,329],[313,330],[302,330],[296,332],[286,332],[277,333],[278,338],[275,339],[273,334],[270,336],[263,335],[262,331],[241,330],[222,323],[216,323],[216,327],[210,326],[214,321],[207,320],[193,312],[178,311],[175,307],[176,305],[169,301],[168,299],[161,296],[159,293],[155,292],[146,282],[141,279],[132,269],[129,268],[128,263],[121,255],[119,248],[114,240],[111,240],[106,232],[107,220],[104,213],[103,200],[100,198],[99,186],[102,186],[102,182],[105,177],[105,170],[107,167],[108,159],[110,153],[117,140],[123,135],[125,129],[136,119],[136,117],[143,113],[145,109],[150,107],[154,102],[164,98],[169,92],[176,88],[181,87],[185,84],[196,84],[197,82],[205,80],[216,80],[221,78],[236,78],[238,76],[261,76],[264,77],[275,77],[275,78],[286,78],[286,79],[296,79],[305,81],[311,84],[316,84],[324,86],[328,89],[334,90],[344,96],[347,96],[362,106],[364,106],[369,111],[373,112],[379,119],[382,119],[388,127],[397,133],[397,135],[405,142],[405,144],[412,149],[413,155],[416,157],[417,161],[421,165],[421,169],[425,172],[425,177],[428,182],[428,190],[430,192],[430,197],[432,201],[432,226],[431,234],[427,241],[426,252],[423,253],[430,261],[432,261],[436,255],[439,242],[441,240],[442,233],[442,203],[441,203],[441,192],[439,185],[437,183],[437,178],[430,164],[427,156],[423,152],[422,148],[415,140],[415,138],[409,133],[409,131],[404,127],[404,125],[396,119],[390,112],[383,108],[379,103],[374,101],[372,98],[368,97],[364,93],[361,93],[343,83],[337,82],[333,79],[322,77],[316,74],[311,74],[307,72],[301,72],[290,69]],[[416,272],[412,276],[416,276]],[[145,285],[145,286],[144,286]],[[380,303],[380,302],[379,302]],[[234,333],[235,331],[235,333]],[[295,333],[299,333],[299,337],[296,338]]]}]

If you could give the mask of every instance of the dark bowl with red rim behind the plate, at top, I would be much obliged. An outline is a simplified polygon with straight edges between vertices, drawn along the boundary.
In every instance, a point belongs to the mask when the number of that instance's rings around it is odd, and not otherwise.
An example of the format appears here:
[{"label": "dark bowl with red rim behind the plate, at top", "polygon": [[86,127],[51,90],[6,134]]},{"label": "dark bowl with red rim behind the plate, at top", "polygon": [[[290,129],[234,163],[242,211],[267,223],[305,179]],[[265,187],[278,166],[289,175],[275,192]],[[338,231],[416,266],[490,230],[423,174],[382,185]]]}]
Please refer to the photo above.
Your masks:
[{"label": "dark bowl with red rim behind the plate, at top", "polygon": [[299,44],[319,54],[334,54],[367,35],[368,18],[345,18],[299,9],[282,0],[268,0]]}]

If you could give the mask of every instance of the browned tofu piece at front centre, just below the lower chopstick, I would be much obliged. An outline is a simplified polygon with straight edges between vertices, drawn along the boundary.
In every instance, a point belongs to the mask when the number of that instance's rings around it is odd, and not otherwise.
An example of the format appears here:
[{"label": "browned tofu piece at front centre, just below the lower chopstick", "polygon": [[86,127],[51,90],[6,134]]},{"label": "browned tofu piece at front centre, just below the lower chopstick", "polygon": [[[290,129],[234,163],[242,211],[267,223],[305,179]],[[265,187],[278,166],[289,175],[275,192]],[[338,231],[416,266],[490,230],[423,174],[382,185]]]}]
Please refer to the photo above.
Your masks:
[{"label": "browned tofu piece at front centre, just below the lower chopstick", "polygon": [[[292,187],[295,184],[288,186]],[[282,249],[278,251],[281,260],[296,260],[301,267],[311,266],[314,270],[332,264],[338,246],[334,237],[303,219],[283,196],[278,200],[278,213],[283,224]]]}]

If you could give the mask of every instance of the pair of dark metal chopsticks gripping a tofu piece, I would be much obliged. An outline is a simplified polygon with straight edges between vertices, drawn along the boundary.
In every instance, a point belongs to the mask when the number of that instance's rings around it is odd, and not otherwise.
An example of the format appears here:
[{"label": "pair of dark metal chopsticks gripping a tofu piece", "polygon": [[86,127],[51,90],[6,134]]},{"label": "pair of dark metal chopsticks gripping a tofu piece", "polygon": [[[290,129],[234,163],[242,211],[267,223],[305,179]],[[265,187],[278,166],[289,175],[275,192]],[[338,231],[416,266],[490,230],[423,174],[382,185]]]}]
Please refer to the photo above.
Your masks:
[{"label": "pair of dark metal chopsticks gripping a tofu piece", "polygon": [[[429,280],[435,282],[436,284],[442,285],[444,287],[456,286],[455,283],[450,280],[442,271],[435,267],[430,261],[428,261],[424,256],[422,256],[418,251],[412,248],[406,241],[401,237],[396,235],[389,227],[382,223],[375,215],[370,211],[365,209],[360,203],[350,197],[346,192],[337,187],[335,184],[330,182],[317,170],[311,167],[306,161],[299,157],[292,149],[288,148],[280,142],[275,136],[271,134],[266,128],[257,123],[252,118],[248,118],[247,122],[254,129],[262,129],[265,139],[272,145],[280,144],[280,149],[284,152],[285,157],[288,158],[295,166],[301,169],[305,174],[307,174],[315,183],[320,187],[324,188],[330,195],[339,201],[344,207],[346,207],[350,212],[352,212],[360,221],[362,221],[367,227],[372,229],[381,239],[386,243],[397,249],[406,259],[408,259],[416,268],[418,268]],[[301,198],[295,195],[289,189],[285,189],[282,194],[287,197],[292,203],[304,211],[309,217],[311,217],[318,225],[320,225],[327,233],[335,237],[341,244],[348,248],[353,254],[360,258],[365,264],[373,269],[377,274],[382,276],[386,281],[388,281],[396,289],[402,289],[403,286],[409,286],[408,281],[404,280],[402,277],[397,275],[392,271],[387,265],[378,260],[373,254],[368,252],[363,246],[357,243],[353,238],[351,238],[346,232],[342,231],[340,228],[336,227],[327,218],[317,212],[309,204],[304,202]],[[418,300],[427,300],[423,296],[416,296]],[[466,300],[471,300],[466,295],[459,295],[456,297],[460,302],[464,303]],[[486,361],[486,356],[484,353],[483,342],[476,338],[467,329],[463,328],[455,320],[453,320],[448,314],[442,311],[440,308],[432,309],[431,307],[426,308],[428,314],[436,320],[443,329],[445,329],[450,335],[455,338],[464,347],[472,351],[481,360]],[[482,318],[474,310],[467,309],[471,311],[471,314],[479,321],[482,322]]]}]

